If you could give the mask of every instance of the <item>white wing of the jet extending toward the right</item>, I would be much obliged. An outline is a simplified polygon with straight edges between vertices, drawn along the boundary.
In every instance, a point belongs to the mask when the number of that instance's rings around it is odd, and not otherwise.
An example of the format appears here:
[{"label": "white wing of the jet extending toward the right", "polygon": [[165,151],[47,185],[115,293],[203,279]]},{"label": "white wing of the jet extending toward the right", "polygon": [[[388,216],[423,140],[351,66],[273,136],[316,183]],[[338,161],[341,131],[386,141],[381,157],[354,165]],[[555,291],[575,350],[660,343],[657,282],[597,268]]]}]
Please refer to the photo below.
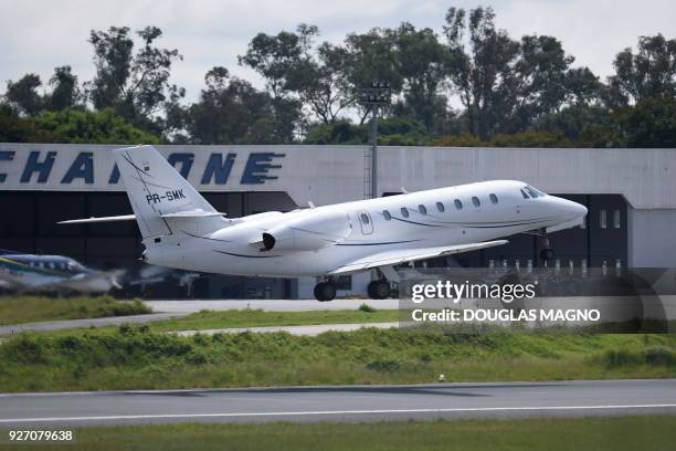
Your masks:
[{"label": "white wing of the jet extending toward the right", "polygon": [[507,244],[507,240],[484,241],[480,243],[443,245],[437,248],[403,249],[385,251],[365,256],[353,262],[338,266],[328,274],[345,274],[357,271],[369,270],[378,266],[389,266],[418,260],[434,259],[436,256],[453,255],[462,252],[477,251],[479,249],[493,248]]}]

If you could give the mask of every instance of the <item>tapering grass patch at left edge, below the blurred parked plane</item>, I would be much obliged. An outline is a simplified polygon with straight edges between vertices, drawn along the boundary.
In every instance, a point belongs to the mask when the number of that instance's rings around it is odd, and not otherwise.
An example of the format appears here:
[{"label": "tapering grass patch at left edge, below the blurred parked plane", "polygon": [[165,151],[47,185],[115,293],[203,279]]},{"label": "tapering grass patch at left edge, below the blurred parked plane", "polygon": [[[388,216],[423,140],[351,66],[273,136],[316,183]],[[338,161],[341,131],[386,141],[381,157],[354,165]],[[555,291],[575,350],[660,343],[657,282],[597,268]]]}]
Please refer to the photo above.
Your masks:
[{"label": "tapering grass patch at left edge, below the blurred parked plane", "polygon": [[139,300],[116,301],[101,297],[1,296],[0,324],[40,321],[98,318],[151,313]]}]

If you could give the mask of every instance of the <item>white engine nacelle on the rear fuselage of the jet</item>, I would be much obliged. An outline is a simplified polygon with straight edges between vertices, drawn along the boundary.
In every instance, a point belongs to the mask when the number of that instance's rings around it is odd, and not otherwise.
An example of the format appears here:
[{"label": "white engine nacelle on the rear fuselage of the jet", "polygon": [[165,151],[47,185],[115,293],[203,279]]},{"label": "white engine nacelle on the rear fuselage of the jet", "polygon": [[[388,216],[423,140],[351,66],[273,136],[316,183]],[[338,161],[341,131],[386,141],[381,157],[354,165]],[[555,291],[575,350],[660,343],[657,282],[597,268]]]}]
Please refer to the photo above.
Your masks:
[{"label": "white engine nacelle on the rear fuselage of the jet", "polygon": [[266,251],[317,251],[345,240],[352,224],[345,211],[308,212],[263,233]]}]

